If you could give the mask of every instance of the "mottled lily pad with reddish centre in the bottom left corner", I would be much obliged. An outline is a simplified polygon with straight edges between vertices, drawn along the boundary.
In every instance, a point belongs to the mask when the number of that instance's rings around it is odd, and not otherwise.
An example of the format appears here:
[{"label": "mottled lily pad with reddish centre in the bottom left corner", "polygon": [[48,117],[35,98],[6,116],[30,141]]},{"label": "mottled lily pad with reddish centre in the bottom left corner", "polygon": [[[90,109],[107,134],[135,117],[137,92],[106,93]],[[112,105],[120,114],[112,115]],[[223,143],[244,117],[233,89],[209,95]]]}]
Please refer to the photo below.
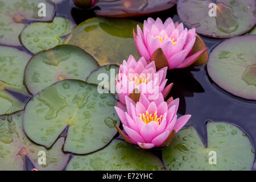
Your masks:
[{"label": "mottled lily pad with reddish centre in the bottom left corner", "polygon": [[[25,156],[36,169],[62,170],[69,160],[69,154],[61,152],[64,138],[58,139],[49,150],[31,142],[22,129],[22,114],[20,111],[0,116],[0,170],[26,170]],[[46,164],[39,165],[39,151],[45,152]]]}]

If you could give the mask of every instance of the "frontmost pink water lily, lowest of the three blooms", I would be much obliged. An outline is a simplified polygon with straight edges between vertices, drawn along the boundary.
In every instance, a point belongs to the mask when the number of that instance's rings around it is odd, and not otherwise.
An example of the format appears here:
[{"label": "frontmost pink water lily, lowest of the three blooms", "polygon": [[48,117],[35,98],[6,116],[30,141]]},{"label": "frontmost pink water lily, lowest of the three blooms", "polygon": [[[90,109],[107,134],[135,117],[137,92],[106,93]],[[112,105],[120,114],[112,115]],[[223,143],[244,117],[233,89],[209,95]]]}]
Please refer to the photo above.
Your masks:
[{"label": "frontmost pink water lily, lowest of the three blooms", "polygon": [[138,144],[141,148],[162,147],[170,143],[174,134],[191,117],[183,115],[177,118],[179,98],[165,102],[161,93],[151,102],[144,94],[141,94],[136,104],[127,96],[125,100],[126,107],[117,102],[115,110],[127,135],[118,126],[115,127],[126,142]]}]

